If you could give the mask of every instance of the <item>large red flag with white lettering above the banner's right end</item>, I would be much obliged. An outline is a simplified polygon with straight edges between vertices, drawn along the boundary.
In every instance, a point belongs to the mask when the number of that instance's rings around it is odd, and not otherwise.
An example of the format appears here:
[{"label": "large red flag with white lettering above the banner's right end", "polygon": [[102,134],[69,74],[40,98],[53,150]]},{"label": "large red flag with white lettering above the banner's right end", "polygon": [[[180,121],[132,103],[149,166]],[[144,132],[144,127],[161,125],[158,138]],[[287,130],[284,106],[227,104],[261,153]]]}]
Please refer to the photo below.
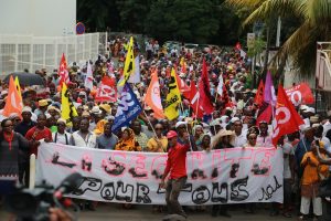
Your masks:
[{"label": "large red flag with white lettering above the banner's right end", "polygon": [[299,130],[299,126],[303,124],[303,120],[297,113],[295,106],[288,101],[281,85],[278,86],[278,98],[275,113],[275,118],[273,120],[273,144],[276,147],[278,139],[281,136]]}]

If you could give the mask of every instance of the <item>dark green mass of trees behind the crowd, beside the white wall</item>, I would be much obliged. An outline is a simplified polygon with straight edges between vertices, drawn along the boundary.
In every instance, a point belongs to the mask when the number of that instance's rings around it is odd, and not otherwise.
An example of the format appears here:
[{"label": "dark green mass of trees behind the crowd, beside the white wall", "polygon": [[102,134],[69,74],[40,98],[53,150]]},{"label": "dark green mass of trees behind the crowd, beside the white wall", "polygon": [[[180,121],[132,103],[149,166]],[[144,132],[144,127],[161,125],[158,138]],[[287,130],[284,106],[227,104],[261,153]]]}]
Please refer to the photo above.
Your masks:
[{"label": "dark green mass of trees behind the crowd, beside the white wall", "polygon": [[[224,0],[77,0],[88,31],[145,33],[161,41],[234,44],[241,18]],[[244,12],[244,13],[243,13]],[[109,29],[107,29],[109,28]]]}]

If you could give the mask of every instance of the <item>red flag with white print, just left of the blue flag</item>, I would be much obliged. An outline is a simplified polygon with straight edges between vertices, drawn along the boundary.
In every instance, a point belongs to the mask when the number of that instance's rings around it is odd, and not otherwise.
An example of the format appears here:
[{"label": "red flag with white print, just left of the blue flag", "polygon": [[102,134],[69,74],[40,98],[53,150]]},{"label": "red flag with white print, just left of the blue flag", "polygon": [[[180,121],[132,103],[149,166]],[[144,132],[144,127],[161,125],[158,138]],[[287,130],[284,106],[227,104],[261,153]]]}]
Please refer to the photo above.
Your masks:
[{"label": "red flag with white print, just left of the blue flag", "polygon": [[109,76],[104,76],[100,86],[97,88],[95,102],[116,102],[117,87],[116,80]]}]

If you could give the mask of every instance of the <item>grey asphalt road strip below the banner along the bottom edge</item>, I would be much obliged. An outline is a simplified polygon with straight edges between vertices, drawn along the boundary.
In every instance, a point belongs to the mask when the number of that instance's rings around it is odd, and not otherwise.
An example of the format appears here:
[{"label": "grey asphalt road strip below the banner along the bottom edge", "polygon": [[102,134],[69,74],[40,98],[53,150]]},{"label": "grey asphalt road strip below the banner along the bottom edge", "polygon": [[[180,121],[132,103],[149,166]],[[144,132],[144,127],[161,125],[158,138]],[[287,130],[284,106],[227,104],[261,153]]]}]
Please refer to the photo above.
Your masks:
[{"label": "grey asphalt road strip below the banner along the bottom edge", "polygon": [[[270,217],[269,210],[258,209],[255,214],[247,214],[244,212],[243,206],[232,206],[229,214],[232,218],[216,217],[213,218],[210,208],[205,212],[188,212],[189,221],[209,221],[209,220],[233,220],[233,221],[280,221],[280,220],[297,220],[292,218],[285,218],[282,215]],[[153,213],[151,206],[135,206],[132,209],[122,209],[120,204],[108,203],[99,204],[96,211],[82,211],[78,215],[79,221],[160,221],[166,213]],[[9,214],[0,209],[0,221],[7,221]]]}]

